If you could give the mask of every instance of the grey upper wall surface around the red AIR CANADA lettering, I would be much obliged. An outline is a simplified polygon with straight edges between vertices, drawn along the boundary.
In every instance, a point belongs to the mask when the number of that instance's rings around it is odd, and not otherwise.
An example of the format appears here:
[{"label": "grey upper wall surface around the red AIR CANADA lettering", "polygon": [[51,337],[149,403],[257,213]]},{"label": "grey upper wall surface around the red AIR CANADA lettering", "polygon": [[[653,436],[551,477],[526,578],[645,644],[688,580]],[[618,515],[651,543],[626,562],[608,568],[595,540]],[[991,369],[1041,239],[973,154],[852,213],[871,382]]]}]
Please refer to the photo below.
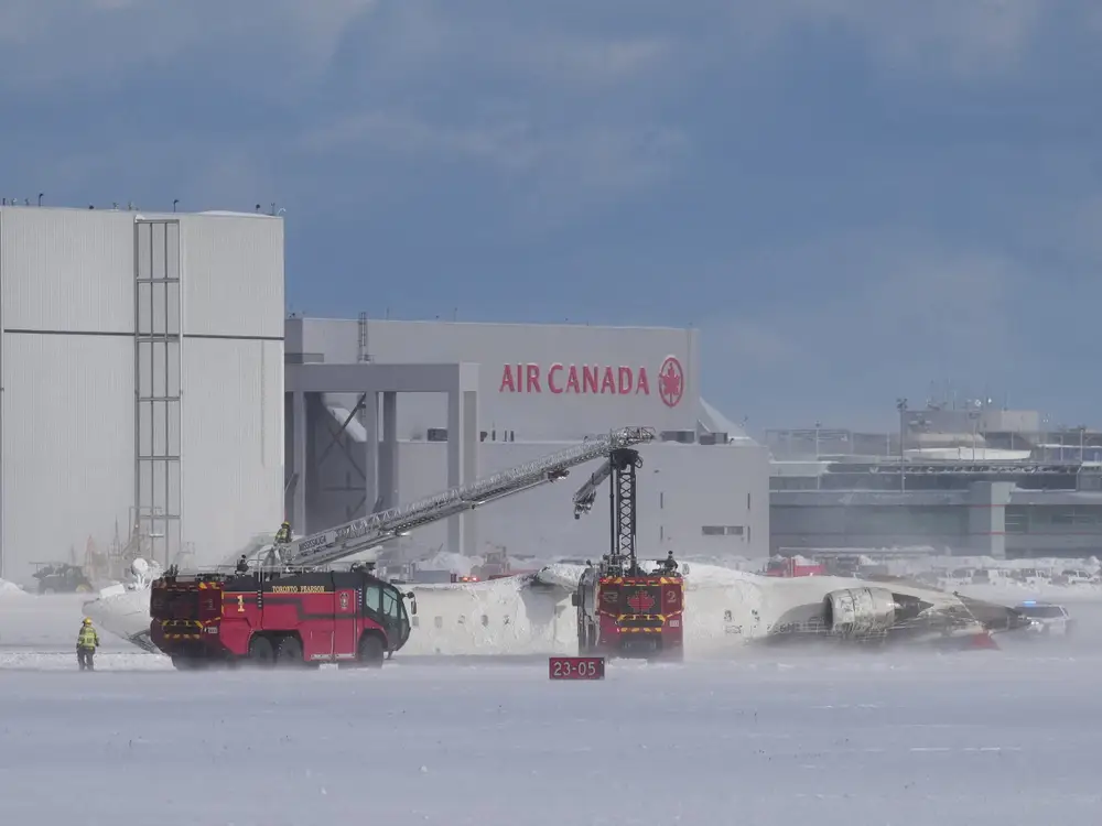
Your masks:
[{"label": "grey upper wall surface around the red AIR CANADA lettering", "polygon": [[[327,362],[358,359],[359,327],[355,320],[307,318],[302,323],[302,349],[323,352]],[[368,354],[380,362],[471,361],[480,366],[479,426],[511,430],[517,438],[577,438],[625,424],[657,430],[695,430],[700,412],[699,335],[694,329],[587,327],[582,325],[452,324],[445,322],[367,323]],[[667,356],[684,372],[680,402],[669,407],[659,394],[659,373]],[[649,393],[554,394],[548,387],[553,363],[646,368]],[[541,392],[503,392],[505,365],[534,363]],[[581,377],[580,377],[581,378]],[[560,385],[566,372],[558,373]],[[398,400],[399,435],[424,435],[446,427],[445,401],[403,394]]]}]

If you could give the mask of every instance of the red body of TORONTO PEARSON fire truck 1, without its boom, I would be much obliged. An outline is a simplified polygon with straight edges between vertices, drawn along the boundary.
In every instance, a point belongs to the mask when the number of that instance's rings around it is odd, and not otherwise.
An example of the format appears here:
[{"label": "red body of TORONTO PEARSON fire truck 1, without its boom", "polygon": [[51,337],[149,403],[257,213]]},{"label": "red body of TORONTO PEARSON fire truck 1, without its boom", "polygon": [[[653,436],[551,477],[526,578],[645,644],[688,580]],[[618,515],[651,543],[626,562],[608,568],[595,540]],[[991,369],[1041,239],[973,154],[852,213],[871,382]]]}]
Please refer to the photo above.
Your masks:
[{"label": "red body of TORONTO PEARSON fire truck 1, without its boom", "polygon": [[378,667],[409,639],[412,597],[369,566],[188,575],[170,568],[153,583],[150,639],[177,669]]}]

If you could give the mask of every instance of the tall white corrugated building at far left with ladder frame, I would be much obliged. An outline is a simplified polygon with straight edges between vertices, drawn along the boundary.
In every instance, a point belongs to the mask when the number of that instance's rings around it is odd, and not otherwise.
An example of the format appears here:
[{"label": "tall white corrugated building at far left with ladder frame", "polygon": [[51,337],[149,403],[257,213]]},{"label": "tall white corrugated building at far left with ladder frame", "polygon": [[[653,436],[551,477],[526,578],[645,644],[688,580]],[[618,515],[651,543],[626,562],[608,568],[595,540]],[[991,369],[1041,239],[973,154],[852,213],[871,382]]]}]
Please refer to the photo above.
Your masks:
[{"label": "tall white corrugated building at far left with ladder frame", "polygon": [[280,218],[0,207],[0,576],[274,530],[283,306]]}]

